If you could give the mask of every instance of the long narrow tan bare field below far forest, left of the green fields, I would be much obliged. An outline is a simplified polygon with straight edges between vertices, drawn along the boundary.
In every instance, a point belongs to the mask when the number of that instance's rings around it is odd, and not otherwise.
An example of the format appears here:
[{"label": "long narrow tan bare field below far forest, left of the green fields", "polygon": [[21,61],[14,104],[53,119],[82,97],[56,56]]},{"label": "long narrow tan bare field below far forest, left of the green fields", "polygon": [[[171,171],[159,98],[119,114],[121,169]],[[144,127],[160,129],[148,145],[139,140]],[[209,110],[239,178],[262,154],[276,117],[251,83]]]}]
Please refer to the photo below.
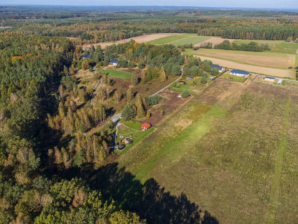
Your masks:
[{"label": "long narrow tan bare field below far forest, left of the green fields", "polygon": [[[136,36],[136,37],[132,37],[132,38],[128,38],[128,39],[123,39],[123,40],[119,40],[116,42],[104,42],[104,43],[97,43],[97,44],[93,44],[94,47],[96,47],[97,45],[100,45],[101,48],[105,48],[106,46],[110,46],[112,44],[121,44],[121,43],[126,43],[129,42],[131,39],[135,40],[138,43],[145,43],[148,42],[150,40],[155,40],[155,39],[159,39],[165,36],[171,36],[171,35],[177,35],[177,34],[184,34],[184,33],[154,33],[154,34],[148,34],[148,35],[142,35],[142,36]],[[85,44],[83,45],[83,47],[90,47],[91,44]]]}]

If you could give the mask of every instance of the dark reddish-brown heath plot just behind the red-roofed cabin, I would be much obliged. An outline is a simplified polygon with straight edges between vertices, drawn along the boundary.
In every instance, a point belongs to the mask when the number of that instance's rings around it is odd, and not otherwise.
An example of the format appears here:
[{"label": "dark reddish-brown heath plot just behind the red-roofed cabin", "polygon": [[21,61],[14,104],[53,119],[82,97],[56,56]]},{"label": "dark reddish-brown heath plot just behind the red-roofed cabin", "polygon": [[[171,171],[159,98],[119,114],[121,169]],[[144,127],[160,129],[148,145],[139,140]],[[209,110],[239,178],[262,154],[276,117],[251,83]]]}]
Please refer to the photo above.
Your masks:
[{"label": "dark reddish-brown heath plot just behind the red-roofed cabin", "polygon": [[[178,97],[180,93],[172,90],[164,90],[158,95],[162,97],[162,100],[159,101],[157,105],[153,105],[153,107],[148,110],[148,112],[151,113],[151,117],[141,119],[139,120],[139,122],[149,123],[151,125],[158,126],[170,114],[178,110],[185,102],[192,98],[192,96],[187,98]],[[164,108],[163,116],[161,116],[161,108]]]}]

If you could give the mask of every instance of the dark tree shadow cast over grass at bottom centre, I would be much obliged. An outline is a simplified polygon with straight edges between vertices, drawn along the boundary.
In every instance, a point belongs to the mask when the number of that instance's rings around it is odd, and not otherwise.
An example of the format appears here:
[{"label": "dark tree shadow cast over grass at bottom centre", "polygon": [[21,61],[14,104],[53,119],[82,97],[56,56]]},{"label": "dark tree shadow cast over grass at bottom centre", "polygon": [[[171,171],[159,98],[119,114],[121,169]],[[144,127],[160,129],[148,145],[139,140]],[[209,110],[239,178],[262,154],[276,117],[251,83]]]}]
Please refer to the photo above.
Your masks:
[{"label": "dark tree shadow cast over grass at bottom centre", "polygon": [[95,171],[89,179],[91,188],[100,190],[103,196],[113,198],[123,210],[136,212],[148,224],[204,223],[218,224],[208,211],[201,211],[184,193],[178,197],[165,191],[155,179],[141,183],[117,163]]}]

